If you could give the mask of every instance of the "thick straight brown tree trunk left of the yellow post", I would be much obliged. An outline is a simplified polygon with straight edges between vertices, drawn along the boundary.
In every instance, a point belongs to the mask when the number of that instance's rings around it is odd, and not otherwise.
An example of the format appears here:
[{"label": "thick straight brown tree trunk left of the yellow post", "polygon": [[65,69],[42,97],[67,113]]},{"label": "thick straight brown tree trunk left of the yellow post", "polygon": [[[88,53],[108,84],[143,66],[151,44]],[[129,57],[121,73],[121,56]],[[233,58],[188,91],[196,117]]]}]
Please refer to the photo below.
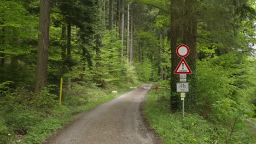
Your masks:
[{"label": "thick straight brown tree trunk left of the yellow post", "polygon": [[49,50],[49,27],[50,27],[50,0],[40,1],[39,12],[39,40],[36,67],[37,93],[47,86],[48,50]]}]

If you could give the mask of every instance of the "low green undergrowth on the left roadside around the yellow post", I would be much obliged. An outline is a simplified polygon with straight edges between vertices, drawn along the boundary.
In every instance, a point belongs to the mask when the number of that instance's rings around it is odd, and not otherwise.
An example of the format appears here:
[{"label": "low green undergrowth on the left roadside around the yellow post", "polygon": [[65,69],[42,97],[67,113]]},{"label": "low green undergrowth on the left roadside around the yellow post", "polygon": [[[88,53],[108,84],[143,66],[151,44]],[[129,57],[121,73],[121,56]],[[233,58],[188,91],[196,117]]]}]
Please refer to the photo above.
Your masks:
[{"label": "low green undergrowth on the left roadside around the yellow post", "polygon": [[[4,88],[8,83],[3,83]],[[0,95],[0,144],[42,143],[43,140],[72,121],[75,113],[90,110],[121,93],[130,91],[129,86],[108,85],[107,88],[86,87],[73,83],[63,89],[62,105],[54,94],[56,86],[50,85],[40,95],[25,88],[5,89]],[[55,90],[56,91],[56,90]],[[111,94],[118,91],[118,94]]]}]

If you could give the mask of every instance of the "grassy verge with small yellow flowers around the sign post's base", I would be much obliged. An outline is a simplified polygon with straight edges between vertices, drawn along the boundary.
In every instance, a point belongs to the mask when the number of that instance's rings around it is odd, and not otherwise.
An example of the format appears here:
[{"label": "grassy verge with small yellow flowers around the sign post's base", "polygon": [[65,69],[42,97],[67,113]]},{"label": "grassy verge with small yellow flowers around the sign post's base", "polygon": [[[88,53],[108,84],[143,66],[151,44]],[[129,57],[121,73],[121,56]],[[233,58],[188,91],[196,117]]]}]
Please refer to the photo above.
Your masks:
[{"label": "grassy verge with small yellow flowers around the sign post's base", "polygon": [[162,143],[255,143],[255,133],[245,124],[237,124],[228,140],[230,129],[225,125],[213,124],[196,113],[170,113],[168,90],[159,89],[158,94],[150,91],[144,104],[144,113],[150,127],[161,137]]}]

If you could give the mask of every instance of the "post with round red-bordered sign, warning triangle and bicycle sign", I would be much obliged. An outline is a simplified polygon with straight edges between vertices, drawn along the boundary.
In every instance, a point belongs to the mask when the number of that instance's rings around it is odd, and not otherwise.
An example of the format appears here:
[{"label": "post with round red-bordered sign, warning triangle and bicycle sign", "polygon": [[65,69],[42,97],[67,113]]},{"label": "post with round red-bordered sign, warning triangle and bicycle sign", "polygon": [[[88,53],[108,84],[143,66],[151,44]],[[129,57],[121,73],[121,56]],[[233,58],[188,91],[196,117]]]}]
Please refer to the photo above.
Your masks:
[{"label": "post with round red-bordered sign, warning triangle and bicycle sign", "polygon": [[179,82],[176,83],[177,92],[181,93],[182,100],[182,117],[184,118],[185,109],[185,92],[189,92],[189,83],[187,81],[187,74],[192,74],[187,62],[184,57],[189,55],[189,47],[187,45],[179,45],[176,49],[176,53],[182,58],[179,62],[178,67],[174,71],[174,74],[179,74]]}]

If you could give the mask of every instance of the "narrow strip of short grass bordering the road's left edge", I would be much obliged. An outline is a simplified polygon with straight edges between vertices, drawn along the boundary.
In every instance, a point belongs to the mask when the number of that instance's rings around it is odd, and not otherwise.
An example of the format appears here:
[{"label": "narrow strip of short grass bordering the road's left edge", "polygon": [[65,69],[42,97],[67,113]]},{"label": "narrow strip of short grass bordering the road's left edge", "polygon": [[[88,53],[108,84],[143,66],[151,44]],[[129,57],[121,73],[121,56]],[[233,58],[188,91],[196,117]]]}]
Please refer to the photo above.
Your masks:
[{"label": "narrow strip of short grass bordering the road's left edge", "polygon": [[[73,118],[72,115],[84,111],[88,111],[90,109],[93,109],[94,107],[105,103],[106,101],[112,100],[121,93],[125,93],[127,91],[130,91],[130,89],[127,88],[118,88],[119,94],[111,94],[109,89],[102,89],[98,87],[94,88],[85,88],[82,86],[78,86],[83,89],[83,91],[80,91],[79,89],[74,89],[75,92],[79,92],[79,94],[86,93],[86,104],[81,104],[79,106],[71,106],[68,109],[68,106],[65,106],[65,101],[63,101],[63,106],[57,107],[59,111],[55,109],[55,117],[51,117],[43,121],[42,123],[39,123],[38,125],[35,125],[28,131],[28,136],[25,138],[22,143],[40,143],[42,140],[47,139],[53,131],[59,130],[63,127],[63,125],[67,124],[69,121],[72,121]],[[115,87],[117,89],[117,87]],[[71,93],[66,93],[71,94]],[[66,97],[67,97],[66,95]],[[79,97],[79,95],[71,95],[71,97]],[[68,100],[68,99],[66,99]],[[77,100],[77,99],[76,99]],[[82,100],[80,98],[80,100]],[[82,100],[84,101],[84,100]],[[63,116],[66,115],[66,116]],[[45,127],[50,125],[50,127]]]}]

